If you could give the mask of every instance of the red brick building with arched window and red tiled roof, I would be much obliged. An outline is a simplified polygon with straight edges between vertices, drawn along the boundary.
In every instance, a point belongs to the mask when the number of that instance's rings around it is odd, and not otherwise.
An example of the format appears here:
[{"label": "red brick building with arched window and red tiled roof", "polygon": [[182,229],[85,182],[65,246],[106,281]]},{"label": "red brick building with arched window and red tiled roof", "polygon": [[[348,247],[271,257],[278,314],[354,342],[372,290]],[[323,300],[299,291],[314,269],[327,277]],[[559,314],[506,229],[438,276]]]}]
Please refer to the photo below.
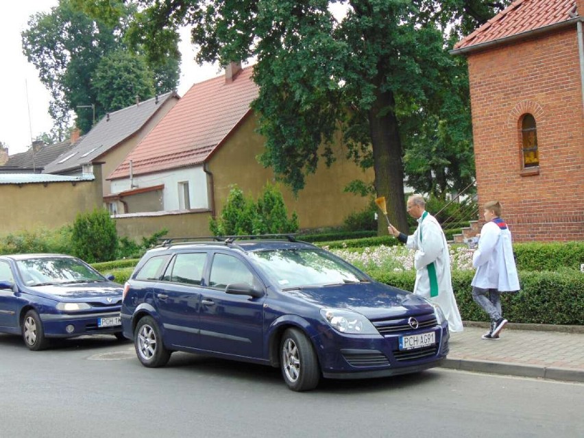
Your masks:
[{"label": "red brick building with arched window and red tiled roof", "polygon": [[584,239],[584,0],[516,0],[454,46],[470,80],[479,204],[515,241]]}]

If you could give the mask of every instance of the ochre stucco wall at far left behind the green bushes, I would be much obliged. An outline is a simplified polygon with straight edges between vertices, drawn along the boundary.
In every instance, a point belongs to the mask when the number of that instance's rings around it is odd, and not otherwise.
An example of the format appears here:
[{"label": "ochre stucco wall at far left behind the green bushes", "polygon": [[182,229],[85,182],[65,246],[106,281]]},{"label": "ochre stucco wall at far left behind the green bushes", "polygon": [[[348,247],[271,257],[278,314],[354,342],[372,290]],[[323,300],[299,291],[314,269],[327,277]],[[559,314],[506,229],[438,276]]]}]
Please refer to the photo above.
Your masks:
[{"label": "ochre stucco wall at far left behind the green bushes", "polygon": [[95,181],[0,184],[0,234],[72,225],[78,212],[101,208]]}]

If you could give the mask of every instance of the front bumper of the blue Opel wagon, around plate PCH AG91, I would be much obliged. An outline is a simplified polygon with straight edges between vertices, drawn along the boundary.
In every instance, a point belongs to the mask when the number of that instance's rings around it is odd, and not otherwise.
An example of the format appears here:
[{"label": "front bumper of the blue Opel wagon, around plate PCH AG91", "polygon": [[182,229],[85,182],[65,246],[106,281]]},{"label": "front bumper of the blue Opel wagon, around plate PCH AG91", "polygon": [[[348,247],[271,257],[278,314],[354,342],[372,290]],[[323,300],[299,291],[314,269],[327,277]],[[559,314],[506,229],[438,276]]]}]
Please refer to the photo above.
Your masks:
[{"label": "front bumper of the blue Opel wagon, around plate PCH AG91", "polygon": [[313,341],[324,377],[371,378],[440,366],[449,351],[448,326],[443,324],[423,332],[434,332],[435,344],[412,350],[400,350],[400,336],[415,332],[365,337],[330,329]]}]

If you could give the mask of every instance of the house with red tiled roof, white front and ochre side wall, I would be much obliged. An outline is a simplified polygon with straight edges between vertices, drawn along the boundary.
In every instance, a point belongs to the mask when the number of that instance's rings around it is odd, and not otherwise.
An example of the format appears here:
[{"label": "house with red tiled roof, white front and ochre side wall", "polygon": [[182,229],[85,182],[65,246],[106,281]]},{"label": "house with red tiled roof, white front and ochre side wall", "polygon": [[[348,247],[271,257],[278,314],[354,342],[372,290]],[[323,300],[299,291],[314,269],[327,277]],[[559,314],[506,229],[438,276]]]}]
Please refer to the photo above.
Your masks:
[{"label": "house with red tiled roof, white front and ochre side wall", "polygon": [[[219,215],[233,184],[257,199],[275,181],[256,158],[265,139],[250,107],[258,97],[252,69],[232,63],[225,75],[194,84],[108,175],[111,193],[104,199],[117,208],[121,235],[167,228],[171,236],[208,236],[209,218]],[[340,226],[367,205],[343,188],[356,179],[372,181],[372,171],[344,159],[340,136],[333,149],[339,160],[309,175],[297,197],[280,187],[301,228]]]}]

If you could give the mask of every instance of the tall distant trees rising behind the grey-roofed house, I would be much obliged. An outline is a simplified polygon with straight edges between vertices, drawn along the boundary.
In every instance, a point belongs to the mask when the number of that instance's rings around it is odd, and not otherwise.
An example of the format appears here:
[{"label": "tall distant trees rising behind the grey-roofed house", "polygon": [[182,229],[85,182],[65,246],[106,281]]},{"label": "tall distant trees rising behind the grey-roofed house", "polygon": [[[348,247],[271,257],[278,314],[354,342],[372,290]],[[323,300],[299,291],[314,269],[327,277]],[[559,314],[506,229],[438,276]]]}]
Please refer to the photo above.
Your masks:
[{"label": "tall distant trees rising behind the grey-roofed house", "polygon": [[[138,95],[148,99],[178,83],[180,53],[176,42],[156,62],[149,62],[142,47],[127,44],[127,20],[136,12],[122,0],[106,2],[115,8],[116,23],[90,18],[78,0],[60,0],[48,13],[30,17],[22,33],[23,52],[51,92],[51,134],[62,141],[71,112],[83,132],[106,112],[131,105]],[[106,4],[104,3],[104,4]],[[161,49],[162,52],[162,49]],[[112,84],[114,78],[116,84]],[[81,108],[80,108],[81,107]]]}]

